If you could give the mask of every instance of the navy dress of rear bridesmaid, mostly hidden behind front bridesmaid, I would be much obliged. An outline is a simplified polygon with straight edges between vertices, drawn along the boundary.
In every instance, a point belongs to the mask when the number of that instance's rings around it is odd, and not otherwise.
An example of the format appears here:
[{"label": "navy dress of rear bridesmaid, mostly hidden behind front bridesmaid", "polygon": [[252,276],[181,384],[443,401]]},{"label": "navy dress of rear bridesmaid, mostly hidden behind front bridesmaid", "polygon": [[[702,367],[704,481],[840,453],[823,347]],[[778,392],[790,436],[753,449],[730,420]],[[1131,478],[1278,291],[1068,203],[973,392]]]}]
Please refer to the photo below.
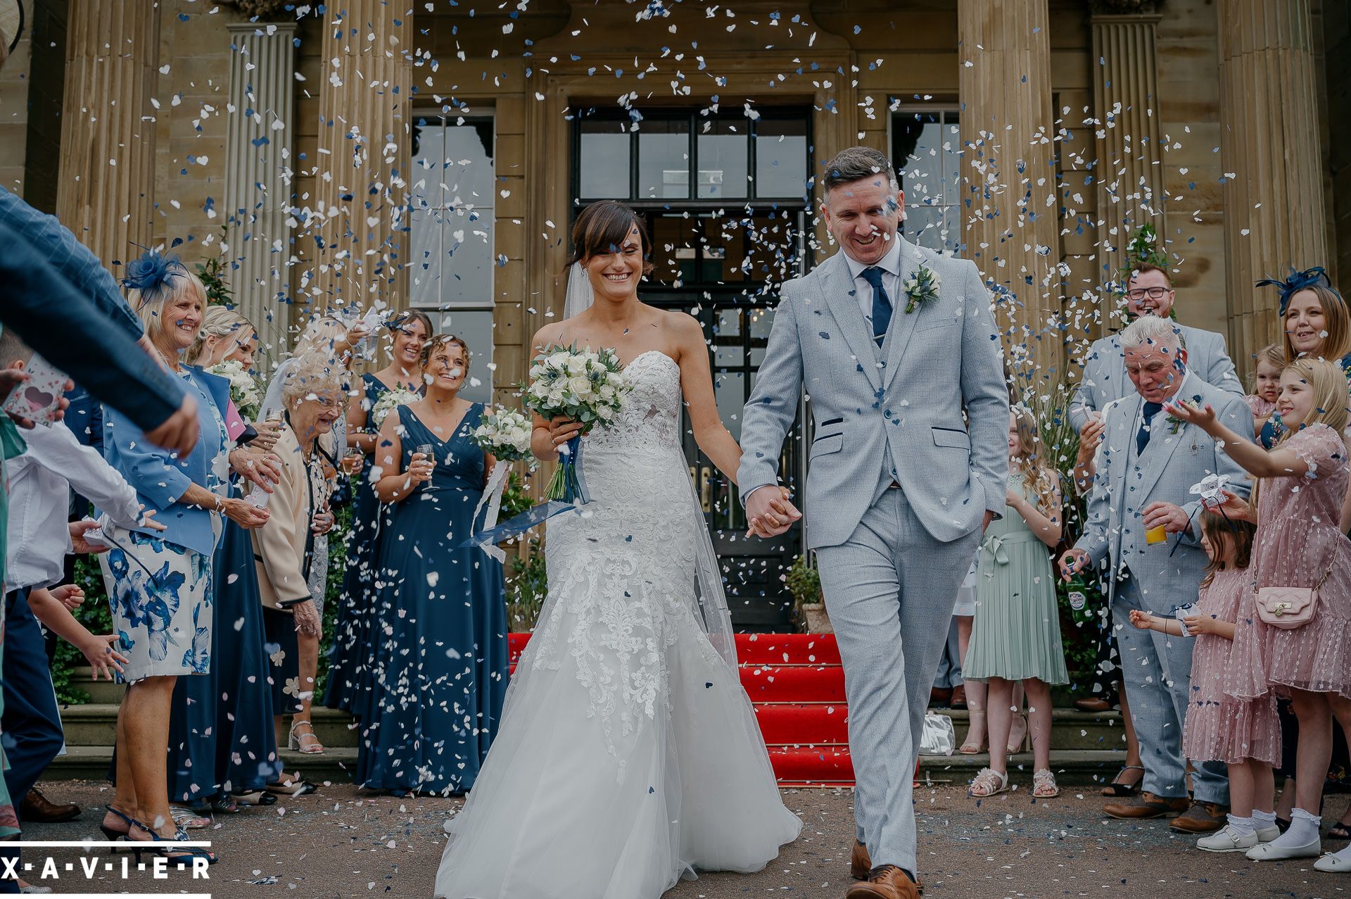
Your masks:
[{"label": "navy dress of rear bridesmaid, mostly hidden behind front bridesmaid", "polygon": [[[376,431],[370,411],[376,408],[389,388],[374,374],[362,374],[365,395],[361,407],[366,412],[367,431]],[[346,447],[343,447],[346,452]],[[376,545],[380,541],[381,507],[370,484],[373,453],[366,453],[361,475],[351,481],[355,495],[351,510],[351,531],[347,535],[347,570],[343,573],[342,596],[334,621],[332,646],[328,650],[328,687],[323,704],[340,708],[361,718],[370,691],[370,619],[374,600]]]}]

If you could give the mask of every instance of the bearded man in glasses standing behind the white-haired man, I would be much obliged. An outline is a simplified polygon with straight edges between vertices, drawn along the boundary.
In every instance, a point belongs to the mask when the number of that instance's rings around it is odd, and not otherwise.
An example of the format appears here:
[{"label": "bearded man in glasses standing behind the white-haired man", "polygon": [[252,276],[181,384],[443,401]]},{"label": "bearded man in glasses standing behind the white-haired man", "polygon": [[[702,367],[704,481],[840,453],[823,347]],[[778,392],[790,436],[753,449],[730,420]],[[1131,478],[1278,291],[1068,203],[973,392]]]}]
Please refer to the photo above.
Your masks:
[{"label": "bearded man in glasses standing behind the white-haired man", "polygon": [[[1169,318],[1175,297],[1173,278],[1166,270],[1156,265],[1140,265],[1131,273],[1125,310],[1136,318],[1142,315]],[[1243,383],[1233,372],[1233,361],[1224,347],[1224,335],[1186,324],[1177,324],[1177,329],[1186,343],[1188,368],[1192,374],[1227,393],[1242,396]],[[1093,341],[1084,360],[1079,388],[1070,402],[1070,423],[1074,424],[1074,430],[1082,431],[1088,420],[1101,415],[1108,403],[1133,393],[1135,389],[1125,376],[1121,335],[1111,334]]]}]

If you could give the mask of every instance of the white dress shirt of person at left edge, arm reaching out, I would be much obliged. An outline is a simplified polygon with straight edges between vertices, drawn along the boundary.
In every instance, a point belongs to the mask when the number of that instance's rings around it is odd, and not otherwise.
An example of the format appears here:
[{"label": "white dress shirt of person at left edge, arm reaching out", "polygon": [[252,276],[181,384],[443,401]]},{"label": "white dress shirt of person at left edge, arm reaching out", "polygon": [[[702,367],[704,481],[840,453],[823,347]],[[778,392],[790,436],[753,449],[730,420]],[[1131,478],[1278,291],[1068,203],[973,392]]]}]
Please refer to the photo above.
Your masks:
[{"label": "white dress shirt of person at left edge, arm reaching out", "polygon": [[65,576],[73,550],[68,527],[70,488],[123,527],[141,519],[136,491],[99,450],[82,446],[65,424],[23,433],[27,452],[4,462],[9,488],[4,591],[51,587]]}]

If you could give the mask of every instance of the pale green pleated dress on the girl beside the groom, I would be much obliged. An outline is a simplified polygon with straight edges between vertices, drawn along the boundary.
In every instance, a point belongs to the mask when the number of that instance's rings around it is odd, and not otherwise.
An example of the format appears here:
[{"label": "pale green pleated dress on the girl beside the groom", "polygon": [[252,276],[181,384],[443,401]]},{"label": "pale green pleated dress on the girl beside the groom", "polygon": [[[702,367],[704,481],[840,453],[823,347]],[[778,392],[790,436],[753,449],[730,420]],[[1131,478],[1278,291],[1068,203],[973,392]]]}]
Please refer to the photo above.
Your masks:
[{"label": "pale green pleated dress on the girl beside the groom", "polygon": [[[1011,473],[1008,485],[1035,499],[1020,473]],[[1009,507],[1004,518],[990,522],[981,542],[975,621],[962,676],[982,681],[1036,677],[1047,684],[1070,680],[1061,646],[1051,550]]]}]

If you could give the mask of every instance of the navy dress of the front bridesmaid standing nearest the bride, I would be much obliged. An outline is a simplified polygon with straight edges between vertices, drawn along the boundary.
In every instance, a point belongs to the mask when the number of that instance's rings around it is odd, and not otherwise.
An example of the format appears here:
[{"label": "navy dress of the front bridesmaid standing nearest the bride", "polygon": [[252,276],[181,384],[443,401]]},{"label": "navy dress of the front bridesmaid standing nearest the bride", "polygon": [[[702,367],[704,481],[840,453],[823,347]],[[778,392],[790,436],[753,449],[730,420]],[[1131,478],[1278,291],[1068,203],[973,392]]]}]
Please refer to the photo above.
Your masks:
[{"label": "navy dress of the front bridesmaid standing nearest the bride", "polygon": [[484,492],[484,452],[470,439],[474,403],[450,441],[407,406],[403,468],[419,445],[436,453],[432,479],[392,503],[378,549],[373,691],[362,721],[357,780],[392,792],[463,792],[497,733],[507,694],[501,564],[461,543]]}]

